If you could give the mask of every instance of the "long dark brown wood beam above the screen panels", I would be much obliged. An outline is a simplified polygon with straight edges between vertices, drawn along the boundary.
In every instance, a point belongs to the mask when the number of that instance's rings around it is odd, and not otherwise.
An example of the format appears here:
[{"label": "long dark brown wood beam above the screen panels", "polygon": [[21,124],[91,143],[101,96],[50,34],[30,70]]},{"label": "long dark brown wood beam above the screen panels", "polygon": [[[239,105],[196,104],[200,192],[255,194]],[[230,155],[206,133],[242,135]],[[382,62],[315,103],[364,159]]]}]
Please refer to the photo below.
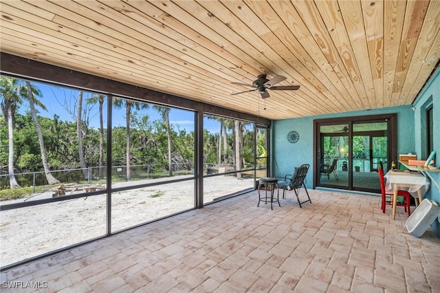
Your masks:
[{"label": "long dark brown wood beam above the screen panels", "polygon": [[50,65],[4,52],[1,52],[0,56],[0,74],[38,80],[54,85],[76,87],[78,89],[95,91],[102,94],[111,94],[123,98],[135,98],[183,109],[197,110],[200,109],[200,106],[202,105],[203,112],[205,113],[256,122],[263,125],[270,126],[271,124],[271,120],[248,113],[241,113],[232,109],[197,102],[188,98],[164,94],[144,87],[137,87],[135,85],[129,85],[128,83],[109,80],[107,78],[77,72],[72,69]]}]

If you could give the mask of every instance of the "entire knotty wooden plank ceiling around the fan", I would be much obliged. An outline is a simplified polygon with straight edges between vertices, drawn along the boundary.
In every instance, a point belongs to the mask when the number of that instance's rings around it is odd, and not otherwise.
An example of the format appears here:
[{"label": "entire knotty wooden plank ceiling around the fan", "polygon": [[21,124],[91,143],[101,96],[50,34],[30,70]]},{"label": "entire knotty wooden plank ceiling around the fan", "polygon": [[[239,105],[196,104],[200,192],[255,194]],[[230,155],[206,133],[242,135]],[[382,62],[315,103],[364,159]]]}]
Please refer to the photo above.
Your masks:
[{"label": "entire knotty wooden plank ceiling around the fan", "polygon": [[[1,0],[1,52],[274,120],[409,105],[440,1]],[[259,74],[297,91],[249,88]]]}]

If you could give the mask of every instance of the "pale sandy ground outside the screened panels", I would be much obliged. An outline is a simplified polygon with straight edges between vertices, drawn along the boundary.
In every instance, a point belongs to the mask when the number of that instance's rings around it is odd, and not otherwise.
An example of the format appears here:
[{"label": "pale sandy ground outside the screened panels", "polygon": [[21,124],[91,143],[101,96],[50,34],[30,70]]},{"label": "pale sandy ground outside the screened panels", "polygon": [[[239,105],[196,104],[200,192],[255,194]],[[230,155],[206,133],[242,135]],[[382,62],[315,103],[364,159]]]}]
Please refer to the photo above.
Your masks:
[{"label": "pale sandy ground outside the screened panels", "polygon": [[[133,183],[120,182],[113,186],[122,187],[129,184]],[[252,186],[252,179],[237,180],[232,176],[206,178],[203,186],[204,202],[212,202],[216,197]],[[48,191],[32,195],[26,200],[50,197],[52,192]],[[14,199],[0,204],[24,200]],[[105,195],[96,195],[1,212],[0,267],[105,235],[106,206]],[[192,180],[113,193],[111,230],[115,232],[129,228],[193,206]]]}]

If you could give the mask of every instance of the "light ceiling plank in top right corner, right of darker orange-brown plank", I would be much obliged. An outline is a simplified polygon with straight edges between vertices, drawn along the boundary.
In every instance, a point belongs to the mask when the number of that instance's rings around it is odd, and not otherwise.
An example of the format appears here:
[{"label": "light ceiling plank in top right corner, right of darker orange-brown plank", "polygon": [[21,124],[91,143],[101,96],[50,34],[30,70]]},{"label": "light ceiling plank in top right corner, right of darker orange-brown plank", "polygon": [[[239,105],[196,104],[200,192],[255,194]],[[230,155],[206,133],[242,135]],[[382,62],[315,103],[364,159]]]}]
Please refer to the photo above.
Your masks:
[{"label": "light ceiling plank in top right corner, right of darker orange-brown plank", "polygon": [[[419,38],[417,39],[417,45],[415,45],[412,62],[408,67],[408,74],[406,74],[404,86],[401,89],[399,102],[403,102],[404,105],[408,104],[408,102],[410,101],[412,102],[413,98],[411,98],[409,93],[410,91],[412,91],[412,87],[415,85],[415,80],[419,76],[419,72],[421,70],[421,67],[423,66],[423,62],[425,60],[431,59],[427,58],[427,56],[430,53],[436,36],[438,36],[439,34],[439,10],[440,1],[430,1],[425,14],[425,18],[423,19],[423,23],[421,24],[421,30]],[[421,38],[420,36],[423,36],[423,38]]]}]

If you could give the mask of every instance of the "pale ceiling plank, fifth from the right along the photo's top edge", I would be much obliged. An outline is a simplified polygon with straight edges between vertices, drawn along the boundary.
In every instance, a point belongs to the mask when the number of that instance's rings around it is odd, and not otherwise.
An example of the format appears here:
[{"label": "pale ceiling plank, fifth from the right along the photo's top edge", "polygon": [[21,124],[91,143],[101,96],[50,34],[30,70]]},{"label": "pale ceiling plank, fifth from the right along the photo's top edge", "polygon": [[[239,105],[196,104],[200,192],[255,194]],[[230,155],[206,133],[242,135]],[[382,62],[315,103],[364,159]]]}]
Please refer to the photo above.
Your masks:
[{"label": "pale ceiling plank, fifth from the right along the photo's top edge", "polygon": [[[362,4],[360,1],[338,0],[342,19],[344,19],[347,35],[349,36],[351,48],[355,52],[355,61],[358,65],[362,84],[366,92],[367,109],[373,109],[375,105],[375,92],[373,87],[373,76],[369,62],[369,52],[366,44],[364,20],[362,17]],[[369,87],[371,85],[371,87]]]}]

